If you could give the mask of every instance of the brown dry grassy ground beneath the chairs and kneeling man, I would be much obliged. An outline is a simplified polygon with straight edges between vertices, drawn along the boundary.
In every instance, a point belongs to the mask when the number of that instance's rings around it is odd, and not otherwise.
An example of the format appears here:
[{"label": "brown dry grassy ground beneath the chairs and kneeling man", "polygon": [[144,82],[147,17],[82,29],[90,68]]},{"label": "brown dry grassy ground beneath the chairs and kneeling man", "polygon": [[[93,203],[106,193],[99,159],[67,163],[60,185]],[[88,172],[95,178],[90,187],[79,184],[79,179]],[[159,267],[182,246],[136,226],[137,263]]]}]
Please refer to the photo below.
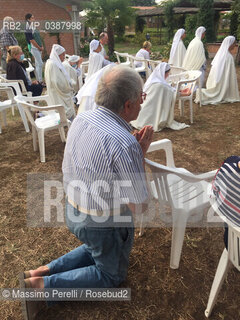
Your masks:
[{"label": "brown dry grassy ground beneath the chairs and kneeling man", "polygon": [[[240,69],[237,68],[238,78]],[[189,123],[185,116],[175,119]],[[230,155],[240,152],[240,103],[219,106],[194,104],[194,123],[182,131],[164,129],[154,140],[173,142],[176,166],[201,173],[218,168]],[[74,249],[79,241],[65,226],[27,226],[27,175],[61,173],[64,144],[58,133],[46,136],[46,163],[33,152],[31,134],[24,131],[18,115],[8,114],[8,126],[0,135],[0,286],[19,287],[23,270],[46,264]],[[162,161],[159,153],[151,159]],[[142,237],[136,230],[128,278],[122,287],[131,288],[130,302],[63,302],[44,309],[39,320],[127,319],[201,320],[216,267],[224,248],[221,227],[192,227],[186,230],[178,270],[169,268],[171,228],[147,228]],[[232,269],[224,282],[212,320],[240,319],[240,277]],[[1,301],[1,320],[21,320],[20,302]]]}]

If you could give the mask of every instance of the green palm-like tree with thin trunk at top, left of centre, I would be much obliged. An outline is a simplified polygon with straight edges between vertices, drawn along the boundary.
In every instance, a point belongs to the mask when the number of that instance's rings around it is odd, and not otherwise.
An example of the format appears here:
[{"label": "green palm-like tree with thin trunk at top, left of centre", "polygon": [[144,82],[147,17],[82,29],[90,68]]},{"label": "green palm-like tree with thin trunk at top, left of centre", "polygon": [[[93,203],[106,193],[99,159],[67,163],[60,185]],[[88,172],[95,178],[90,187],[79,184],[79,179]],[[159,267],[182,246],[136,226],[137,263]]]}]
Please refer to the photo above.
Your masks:
[{"label": "green palm-like tree with thin trunk at top, left of centre", "polygon": [[108,54],[114,52],[114,29],[122,33],[135,17],[130,0],[93,0],[86,5],[87,24],[99,32],[107,28]]}]

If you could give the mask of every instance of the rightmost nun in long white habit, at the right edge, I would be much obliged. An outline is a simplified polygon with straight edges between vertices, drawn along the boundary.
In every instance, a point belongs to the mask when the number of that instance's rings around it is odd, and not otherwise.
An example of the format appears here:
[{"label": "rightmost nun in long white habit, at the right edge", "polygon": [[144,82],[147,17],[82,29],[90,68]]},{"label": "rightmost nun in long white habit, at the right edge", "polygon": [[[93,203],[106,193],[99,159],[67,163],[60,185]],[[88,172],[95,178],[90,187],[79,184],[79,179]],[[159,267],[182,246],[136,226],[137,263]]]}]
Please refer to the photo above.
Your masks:
[{"label": "rightmost nun in long white habit, at the right edge", "polygon": [[[235,37],[226,37],[211,65],[206,89],[202,89],[202,104],[218,104],[239,101],[237,74],[231,49],[235,46]],[[199,102],[199,92],[196,93]]]}]

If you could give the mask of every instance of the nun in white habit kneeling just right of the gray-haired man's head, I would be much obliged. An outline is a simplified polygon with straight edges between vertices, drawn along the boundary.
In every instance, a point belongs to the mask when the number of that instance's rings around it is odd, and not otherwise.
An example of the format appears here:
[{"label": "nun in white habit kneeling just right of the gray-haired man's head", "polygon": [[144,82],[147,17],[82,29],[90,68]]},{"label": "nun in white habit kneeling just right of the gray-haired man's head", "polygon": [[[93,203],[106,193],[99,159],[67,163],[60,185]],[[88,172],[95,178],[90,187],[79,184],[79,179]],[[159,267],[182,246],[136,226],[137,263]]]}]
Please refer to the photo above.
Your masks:
[{"label": "nun in white habit kneeling just right of the gray-haired man's head", "polygon": [[181,130],[189,127],[174,120],[175,89],[166,81],[170,65],[160,63],[146,81],[143,91],[147,94],[141,106],[138,118],[131,122],[134,128],[142,129],[145,125],[153,126],[154,132],[163,128]]}]

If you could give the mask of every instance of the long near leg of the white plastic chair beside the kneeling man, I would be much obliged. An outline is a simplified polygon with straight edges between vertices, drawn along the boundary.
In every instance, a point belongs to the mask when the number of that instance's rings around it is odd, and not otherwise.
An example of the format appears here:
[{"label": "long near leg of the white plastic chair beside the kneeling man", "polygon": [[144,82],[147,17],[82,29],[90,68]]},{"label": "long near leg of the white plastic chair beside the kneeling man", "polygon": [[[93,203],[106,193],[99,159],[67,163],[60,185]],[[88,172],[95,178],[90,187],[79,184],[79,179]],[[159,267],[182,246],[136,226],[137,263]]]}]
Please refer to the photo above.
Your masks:
[{"label": "long near leg of the white plastic chair beside the kneeling man", "polygon": [[178,269],[179,261],[182,253],[183,240],[186,230],[187,216],[184,213],[173,212],[173,227],[172,227],[172,245],[170,268]]}]

